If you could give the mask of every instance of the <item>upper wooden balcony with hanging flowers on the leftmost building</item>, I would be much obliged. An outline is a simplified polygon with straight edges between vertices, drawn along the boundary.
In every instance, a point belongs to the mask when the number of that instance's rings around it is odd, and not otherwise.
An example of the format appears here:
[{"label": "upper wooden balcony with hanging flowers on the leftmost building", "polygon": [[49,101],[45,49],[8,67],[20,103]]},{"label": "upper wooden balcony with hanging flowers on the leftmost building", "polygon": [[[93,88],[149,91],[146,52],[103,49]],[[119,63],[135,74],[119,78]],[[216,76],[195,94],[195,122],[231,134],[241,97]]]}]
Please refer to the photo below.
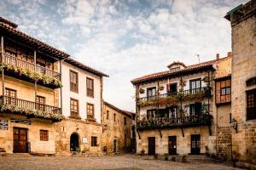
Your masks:
[{"label": "upper wooden balcony with hanging flowers on the leftmost building", "polygon": [[[38,82],[38,85],[42,85],[48,88],[60,88],[61,87],[61,74],[52,70],[49,70],[43,66],[35,65],[31,62],[27,62],[22,59],[18,59],[15,56],[9,54],[3,54],[3,63],[1,67],[4,69],[5,75],[9,77],[15,77],[26,82]],[[2,62],[2,55],[0,56]]]}]

